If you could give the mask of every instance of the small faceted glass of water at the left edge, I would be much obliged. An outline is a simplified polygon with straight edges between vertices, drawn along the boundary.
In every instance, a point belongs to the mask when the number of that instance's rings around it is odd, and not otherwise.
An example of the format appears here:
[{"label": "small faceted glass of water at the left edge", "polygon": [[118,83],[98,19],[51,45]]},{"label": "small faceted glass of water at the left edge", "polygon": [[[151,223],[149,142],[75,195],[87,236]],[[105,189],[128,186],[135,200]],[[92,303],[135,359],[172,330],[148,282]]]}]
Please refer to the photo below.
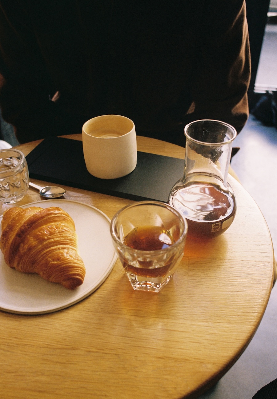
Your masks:
[{"label": "small faceted glass of water at the left edge", "polygon": [[16,203],[28,191],[29,172],[23,152],[15,148],[0,150],[0,201]]}]

